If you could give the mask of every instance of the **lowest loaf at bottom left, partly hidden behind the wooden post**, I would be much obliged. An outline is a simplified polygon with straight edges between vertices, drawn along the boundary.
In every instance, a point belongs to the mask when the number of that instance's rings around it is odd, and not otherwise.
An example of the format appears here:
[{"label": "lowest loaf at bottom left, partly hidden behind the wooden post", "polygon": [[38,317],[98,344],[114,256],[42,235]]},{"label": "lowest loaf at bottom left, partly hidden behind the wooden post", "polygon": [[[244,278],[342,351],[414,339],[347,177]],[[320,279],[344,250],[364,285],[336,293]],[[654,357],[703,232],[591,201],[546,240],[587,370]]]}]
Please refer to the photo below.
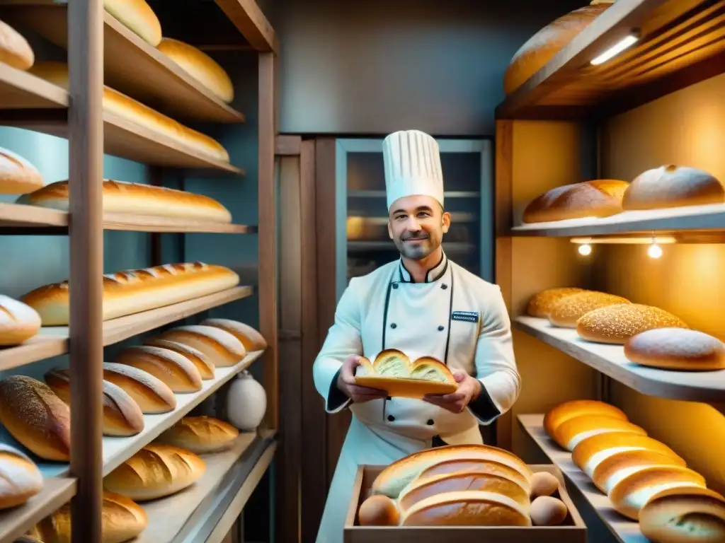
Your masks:
[{"label": "lowest loaf at bottom left, partly hidden behind the wooden post", "polygon": [[[141,534],[149,517],[140,505],[115,492],[103,492],[101,543],[123,543]],[[43,543],[70,543],[70,503],[43,518],[30,531]]]}]

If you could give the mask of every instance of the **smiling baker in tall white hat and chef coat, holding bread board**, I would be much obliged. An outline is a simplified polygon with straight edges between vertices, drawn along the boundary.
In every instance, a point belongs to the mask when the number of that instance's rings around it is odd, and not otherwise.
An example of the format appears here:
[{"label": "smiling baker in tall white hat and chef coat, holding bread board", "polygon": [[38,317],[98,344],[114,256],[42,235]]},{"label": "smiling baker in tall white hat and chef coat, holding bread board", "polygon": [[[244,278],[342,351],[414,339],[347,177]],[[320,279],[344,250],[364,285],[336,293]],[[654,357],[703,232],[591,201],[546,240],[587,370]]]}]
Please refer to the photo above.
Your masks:
[{"label": "smiling baker in tall white hat and chef coat, holding bread board", "polygon": [[[479,424],[491,424],[518,397],[500,288],[452,262],[441,245],[450,214],[438,143],[418,130],[394,132],[383,142],[383,159],[388,232],[400,258],[350,280],[312,369],[326,411],[352,411],[318,543],[342,541],[360,464],[386,466],[435,445],[480,444]],[[413,400],[355,385],[360,357],[373,361],[388,348],[444,361],[457,391]]]}]

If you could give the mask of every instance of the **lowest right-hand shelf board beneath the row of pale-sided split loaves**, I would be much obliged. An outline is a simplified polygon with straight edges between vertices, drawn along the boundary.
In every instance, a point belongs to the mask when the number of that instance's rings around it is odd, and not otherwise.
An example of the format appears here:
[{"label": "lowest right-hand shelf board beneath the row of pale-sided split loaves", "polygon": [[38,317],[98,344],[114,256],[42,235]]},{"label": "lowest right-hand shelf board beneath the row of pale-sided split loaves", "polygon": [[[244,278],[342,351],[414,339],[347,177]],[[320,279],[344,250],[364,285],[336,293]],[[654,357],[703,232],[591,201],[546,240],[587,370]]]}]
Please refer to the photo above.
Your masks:
[{"label": "lowest right-hand shelf board beneath the row of pale-sided split loaves", "polygon": [[614,510],[606,494],[595,487],[587,473],[576,467],[571,453],[561,449],[544,432],[543,415],[519,415],[518,424],[539,446],[545,455],[558,467],[566,479],[576,488],[581,497],[591,505],[597,515],[621,543],[649,543],[650,540],[639,531],[639,523],[630,521]]}]

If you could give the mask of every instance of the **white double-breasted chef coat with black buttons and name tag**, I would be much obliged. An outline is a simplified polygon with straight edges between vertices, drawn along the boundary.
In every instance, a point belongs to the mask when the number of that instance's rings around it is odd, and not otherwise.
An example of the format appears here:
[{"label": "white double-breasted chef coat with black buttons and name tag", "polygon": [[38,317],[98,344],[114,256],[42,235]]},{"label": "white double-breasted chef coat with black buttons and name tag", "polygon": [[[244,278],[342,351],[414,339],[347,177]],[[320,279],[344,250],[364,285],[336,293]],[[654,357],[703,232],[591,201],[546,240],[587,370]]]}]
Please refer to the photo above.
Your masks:
[{"label": "white double-breasted chef coat with black buttons and name tag", "polygon": [[[462,413],[399,397],[352,403],[336,387],[343,361],[356,354],[373,361],[386,348],[402,350],[412,360],[433,356],[452,370],[464,370],[481,381],[481,395]],[[313,376],[328,413],[352,411],[317,543],[342,542],[360,464],[388,465],[431,447],[434,437],[451,445],[481,443],[479,424],[491,424],[508,411],[520,383],[500,288],[445,255],[425,282],[413,282],[402,260],[353,278]]]}]

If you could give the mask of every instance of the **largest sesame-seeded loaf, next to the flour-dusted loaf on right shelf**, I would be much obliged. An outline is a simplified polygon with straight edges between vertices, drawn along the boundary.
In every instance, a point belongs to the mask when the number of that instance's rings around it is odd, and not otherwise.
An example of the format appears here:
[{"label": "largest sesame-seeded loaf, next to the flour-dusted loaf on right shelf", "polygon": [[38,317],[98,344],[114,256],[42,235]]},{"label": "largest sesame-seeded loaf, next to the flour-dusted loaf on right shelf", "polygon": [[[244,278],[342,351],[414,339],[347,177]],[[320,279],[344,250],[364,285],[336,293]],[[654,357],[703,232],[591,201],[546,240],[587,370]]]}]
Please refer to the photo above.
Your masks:
[{"label": "largest sesame-seeded loaf, next to the flour-dusted loaf on right shelf", "polygon": [[663,309],[621,303],[589,311],[576,322],[576,333],[587,341],[622,345],[646,330],[666,327],[688,328],[681,319]]}]

